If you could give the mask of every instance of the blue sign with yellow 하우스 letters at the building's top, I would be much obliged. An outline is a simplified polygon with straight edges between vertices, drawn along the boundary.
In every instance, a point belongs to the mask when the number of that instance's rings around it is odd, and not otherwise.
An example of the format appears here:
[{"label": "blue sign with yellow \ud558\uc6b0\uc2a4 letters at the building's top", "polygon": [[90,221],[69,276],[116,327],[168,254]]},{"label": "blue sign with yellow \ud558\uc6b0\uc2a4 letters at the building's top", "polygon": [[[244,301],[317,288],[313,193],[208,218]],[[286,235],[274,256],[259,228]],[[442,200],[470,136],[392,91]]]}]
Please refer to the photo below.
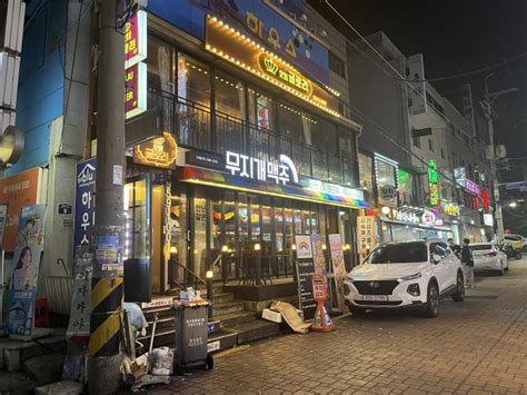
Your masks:
[{"label": "blue sign with yellow \ud558\uc6b0\uc2a4 letters at the building's top", "polygon": [[262,0],[150,0],[148,11],[200,40],[205,40],[205,16],[217,16],[259,37],[311,78],[329,83],[328,49]]}]

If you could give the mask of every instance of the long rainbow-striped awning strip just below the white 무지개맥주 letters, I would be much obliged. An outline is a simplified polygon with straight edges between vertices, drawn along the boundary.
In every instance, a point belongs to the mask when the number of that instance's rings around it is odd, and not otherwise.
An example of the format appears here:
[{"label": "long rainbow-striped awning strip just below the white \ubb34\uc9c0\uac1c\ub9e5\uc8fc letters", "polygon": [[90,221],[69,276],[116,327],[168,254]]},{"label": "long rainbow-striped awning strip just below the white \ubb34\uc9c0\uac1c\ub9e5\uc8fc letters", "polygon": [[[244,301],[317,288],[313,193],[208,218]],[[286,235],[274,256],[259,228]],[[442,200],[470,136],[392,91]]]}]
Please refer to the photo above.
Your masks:
[{"label": "long rainbow-striped awning strip just below the white \ubb34\uc9c0\uac1c\ub9e5\uc8fc letters", "polygon": [[226,172],[206,170],[195,167],[178,169],[178,180],[190,184],[207,185],[217,188],[241,190],[252,194],[278,196],[296,200],[320,203],[324,205],[347,208],[368,208],[369,205],[359,199],[336,196],[305,189],[300,186],[268,184],[259,180],[231,176]]}]

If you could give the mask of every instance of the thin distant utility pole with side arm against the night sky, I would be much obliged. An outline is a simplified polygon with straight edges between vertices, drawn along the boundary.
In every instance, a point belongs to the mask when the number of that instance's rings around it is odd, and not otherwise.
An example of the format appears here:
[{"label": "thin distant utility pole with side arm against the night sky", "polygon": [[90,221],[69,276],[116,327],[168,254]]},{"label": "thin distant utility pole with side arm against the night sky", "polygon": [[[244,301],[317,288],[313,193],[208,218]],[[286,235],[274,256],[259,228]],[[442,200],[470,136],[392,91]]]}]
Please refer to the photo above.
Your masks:
[{"label": "thin distant utility pole with side arm against the night sky", "polygon": [[499,90],[493,93],[488,91],[488,79],[494,75],[490,73],[485,76],[485,106],[484,112],[487,118],[488,125],[488,141],[491,148],[491,158],[490,158],[490,174],[493,177],[493,189],[494,189],[494,200],[496,203],[496,223],[498,230],[498,240],[504,238],[504,217],[501,213],[501,203],[499,201],[499,182],[498,182],[498,172],[496,170],[496,149],[494,145],[494,119],[493,119],[493,100],[497,99],[501,95],[515,92],[518,88],[510,88],[505,90]]}]

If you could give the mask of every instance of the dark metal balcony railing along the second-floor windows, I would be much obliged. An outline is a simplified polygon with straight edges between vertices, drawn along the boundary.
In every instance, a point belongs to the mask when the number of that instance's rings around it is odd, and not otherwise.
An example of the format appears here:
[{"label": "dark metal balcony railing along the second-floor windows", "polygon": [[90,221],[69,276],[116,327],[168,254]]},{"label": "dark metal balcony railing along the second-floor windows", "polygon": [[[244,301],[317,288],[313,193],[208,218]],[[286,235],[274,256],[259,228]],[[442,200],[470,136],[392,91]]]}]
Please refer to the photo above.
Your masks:
[{"label": "dark metal balcony railing along the second-floor windows", "polygon": [[162,130],[176,135],[182,147],[217,154],[235,151],[265,160],[278,160],[280,154],[285,154],[292,159],[299,175],[335,184],[355,184],[356,164],[351,159],[330,155],[219,111],[212,115],[209,107],[165,91],[150,89],[148,105],[160,109]]}]

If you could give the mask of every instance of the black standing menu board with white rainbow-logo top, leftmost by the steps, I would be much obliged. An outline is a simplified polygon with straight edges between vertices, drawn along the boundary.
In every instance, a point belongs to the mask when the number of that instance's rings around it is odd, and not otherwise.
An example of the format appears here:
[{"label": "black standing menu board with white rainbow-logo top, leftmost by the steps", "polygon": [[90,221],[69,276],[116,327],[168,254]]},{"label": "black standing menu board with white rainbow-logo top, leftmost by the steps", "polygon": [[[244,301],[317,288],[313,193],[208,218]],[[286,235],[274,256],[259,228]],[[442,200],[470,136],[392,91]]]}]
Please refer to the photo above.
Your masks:
[{"label": "black standing menu board with white rainbow-logo top, leftmost by the steps", "polygon": [[315,274],[314,255],[310,235],[295,235],[297,246],[297,283],[298,303],[304,313],[304,319],[312,319],[317,303],[312,297],[311,277]]}]

